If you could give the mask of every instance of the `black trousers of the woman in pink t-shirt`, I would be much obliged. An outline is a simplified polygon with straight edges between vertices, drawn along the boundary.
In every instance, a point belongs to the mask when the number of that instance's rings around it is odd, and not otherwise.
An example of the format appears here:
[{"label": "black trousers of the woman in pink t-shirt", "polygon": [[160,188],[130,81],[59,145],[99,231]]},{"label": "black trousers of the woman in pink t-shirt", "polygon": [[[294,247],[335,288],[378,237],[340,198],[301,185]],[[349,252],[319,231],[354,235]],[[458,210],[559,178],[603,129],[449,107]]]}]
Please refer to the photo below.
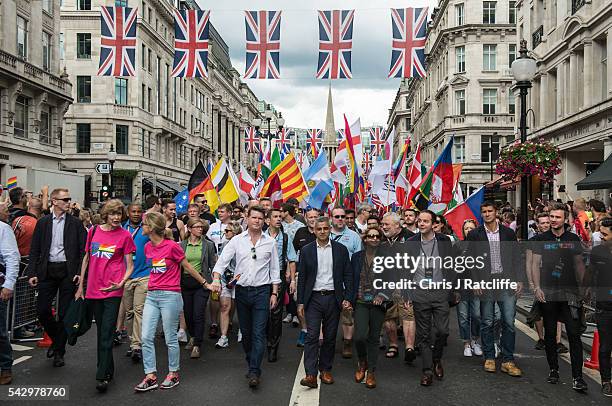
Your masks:
[{"label": "black trousers of the woman in pink t-shirt", "polygon": [[113,335],[119,314],[120,297],[109,297],[107,299],[88,299],[94,318],[96,319],[96,330],[98,338],[98,362],[96,368],[96,379],[112,379],[115,373],[113,360]]}]

